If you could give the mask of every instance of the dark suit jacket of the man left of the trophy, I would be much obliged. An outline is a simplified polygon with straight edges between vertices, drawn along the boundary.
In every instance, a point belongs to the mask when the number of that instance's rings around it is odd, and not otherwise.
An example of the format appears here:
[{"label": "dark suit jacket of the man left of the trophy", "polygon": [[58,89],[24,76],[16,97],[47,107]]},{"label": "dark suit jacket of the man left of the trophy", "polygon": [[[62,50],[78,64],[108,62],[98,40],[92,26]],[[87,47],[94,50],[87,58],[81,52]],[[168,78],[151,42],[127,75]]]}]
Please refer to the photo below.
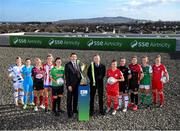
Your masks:
[{"label": "dark suit jacket of the man left of the trophy", "polygon": [[66,79],[66,86],[72,86],[75,88],[81,81],[81,68],[80,65],[77,64],[79,71],[74,69],[72,62],[68,62],[65,65],[65,79]]}]

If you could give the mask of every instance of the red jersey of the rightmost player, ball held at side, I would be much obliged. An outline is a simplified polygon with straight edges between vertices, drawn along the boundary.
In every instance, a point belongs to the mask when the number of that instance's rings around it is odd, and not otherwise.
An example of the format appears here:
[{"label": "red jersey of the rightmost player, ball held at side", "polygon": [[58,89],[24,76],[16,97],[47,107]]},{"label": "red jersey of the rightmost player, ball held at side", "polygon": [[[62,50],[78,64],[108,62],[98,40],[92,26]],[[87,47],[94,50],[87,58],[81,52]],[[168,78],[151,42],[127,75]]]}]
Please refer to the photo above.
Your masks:
[{"label": "red jersey of the rightmost player, ball held at side", "polygon": [[163,73],[167,74],[166,67],[163,64],[156,66],[155,64],[152,66],[152,80],[153,81],[160,81]]}]

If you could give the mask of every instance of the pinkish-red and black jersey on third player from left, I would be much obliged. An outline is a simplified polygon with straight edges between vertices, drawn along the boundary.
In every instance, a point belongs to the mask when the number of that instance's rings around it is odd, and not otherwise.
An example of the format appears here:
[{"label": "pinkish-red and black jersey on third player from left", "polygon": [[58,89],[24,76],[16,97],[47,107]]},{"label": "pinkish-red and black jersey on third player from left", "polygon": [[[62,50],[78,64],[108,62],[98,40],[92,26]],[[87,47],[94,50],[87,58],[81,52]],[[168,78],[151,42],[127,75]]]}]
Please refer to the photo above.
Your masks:
[{"label": "pinkish-red and black jersey on third player from left", "polygon": [[32,77],[33,77],[35,82],[43,81],[43,78],[44,78],[43,68],[42,67],[40,67],[40,68],[34,67],[32,69]]}]

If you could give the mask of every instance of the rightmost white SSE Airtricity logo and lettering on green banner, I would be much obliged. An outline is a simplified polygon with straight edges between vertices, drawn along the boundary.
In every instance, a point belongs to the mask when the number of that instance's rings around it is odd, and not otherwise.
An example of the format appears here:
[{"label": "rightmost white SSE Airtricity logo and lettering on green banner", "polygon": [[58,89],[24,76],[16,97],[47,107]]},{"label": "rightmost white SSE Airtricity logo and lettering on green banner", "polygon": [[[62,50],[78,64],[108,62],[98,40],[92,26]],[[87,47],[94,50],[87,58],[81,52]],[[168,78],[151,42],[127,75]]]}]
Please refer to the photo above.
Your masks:
[{"label": "rightmost white SSE Airtricity logo and lettering on green banner", "polygon": [[135,47],[143,47],[143,48],[149,48],[149,47],[158,47],[158,48],[170,48],[170,44],[168,43],[158,43],[158,42],[141,42],[141,41],[137,41],[134,40],[131,42],[131,48],[135,48]]}]

